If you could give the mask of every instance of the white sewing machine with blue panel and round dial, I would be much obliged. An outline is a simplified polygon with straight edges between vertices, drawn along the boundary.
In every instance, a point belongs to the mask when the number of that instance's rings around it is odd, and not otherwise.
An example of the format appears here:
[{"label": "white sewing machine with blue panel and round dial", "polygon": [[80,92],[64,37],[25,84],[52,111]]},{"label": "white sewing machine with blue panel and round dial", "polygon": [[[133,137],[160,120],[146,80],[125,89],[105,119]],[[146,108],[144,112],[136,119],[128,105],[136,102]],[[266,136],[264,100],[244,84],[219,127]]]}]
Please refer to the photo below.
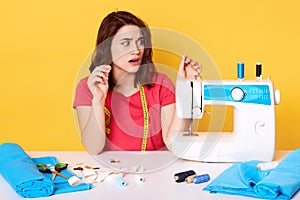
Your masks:
[{"label": "white sewing machine with blue panel and round dial", "polygon": [[[172,142],[175,156],[204,162],[271,161],[275,151],[275,104],[280,92],[262,80],[177,80],[176,110],[190,120],[187,132]],[[193,132],[192,122],[201,119],[208,105],[233,107],[232,132]],[[211,113],[222,127],[226,111]],[[201,126],[201,124],[200,124]]]}]

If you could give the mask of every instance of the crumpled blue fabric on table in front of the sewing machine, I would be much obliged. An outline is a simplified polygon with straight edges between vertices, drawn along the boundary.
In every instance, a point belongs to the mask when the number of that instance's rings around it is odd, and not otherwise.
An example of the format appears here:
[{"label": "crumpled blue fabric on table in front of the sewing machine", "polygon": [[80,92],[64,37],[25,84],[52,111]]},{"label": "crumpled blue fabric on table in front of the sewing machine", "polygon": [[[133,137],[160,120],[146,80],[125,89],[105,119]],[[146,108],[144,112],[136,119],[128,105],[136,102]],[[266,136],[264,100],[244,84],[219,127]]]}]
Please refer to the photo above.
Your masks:
[{"label": "crumpled blue fabric on table in front of the sewing machine", "polygon": [[300,149],[289,153],[276,168],[259,170],[261,161],[235,163],[203,190],[261,199],[290,199],[300,188]]}]

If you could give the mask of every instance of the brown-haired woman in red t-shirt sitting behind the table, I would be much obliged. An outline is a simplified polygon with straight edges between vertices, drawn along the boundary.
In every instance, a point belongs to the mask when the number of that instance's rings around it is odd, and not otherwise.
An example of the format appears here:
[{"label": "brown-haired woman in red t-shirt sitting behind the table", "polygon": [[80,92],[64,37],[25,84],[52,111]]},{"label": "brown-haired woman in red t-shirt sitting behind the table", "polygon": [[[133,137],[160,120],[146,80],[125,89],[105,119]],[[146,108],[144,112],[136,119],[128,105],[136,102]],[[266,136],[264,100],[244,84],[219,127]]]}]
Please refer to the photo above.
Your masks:
[{"label": "brown-haired woman in red t-shirt sitting behind the table", "polygon": [[[81,139],[91,154],[107,150],[160,150],[184,127],[176,117],[175,89],[152,61],[151,34],[138,17],[112,12],[102,21],[90,66],[76,89]],[[199,76],[182,57],[178,76]]]}]

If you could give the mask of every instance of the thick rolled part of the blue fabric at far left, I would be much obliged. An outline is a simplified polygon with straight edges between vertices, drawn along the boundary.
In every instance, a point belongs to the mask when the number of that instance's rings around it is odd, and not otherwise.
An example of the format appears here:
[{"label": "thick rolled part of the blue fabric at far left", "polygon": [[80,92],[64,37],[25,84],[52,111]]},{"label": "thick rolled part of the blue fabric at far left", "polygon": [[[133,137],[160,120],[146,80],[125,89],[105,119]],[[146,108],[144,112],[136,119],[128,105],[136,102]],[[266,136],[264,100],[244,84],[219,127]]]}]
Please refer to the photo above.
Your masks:
[{"label": "thick rolled part of the blue fabric at far left", "polygon": [[16,144],[0,146],[0,174],[22,197],[46,197],[54,193],[54,183],[39,172],[32,159]]}]

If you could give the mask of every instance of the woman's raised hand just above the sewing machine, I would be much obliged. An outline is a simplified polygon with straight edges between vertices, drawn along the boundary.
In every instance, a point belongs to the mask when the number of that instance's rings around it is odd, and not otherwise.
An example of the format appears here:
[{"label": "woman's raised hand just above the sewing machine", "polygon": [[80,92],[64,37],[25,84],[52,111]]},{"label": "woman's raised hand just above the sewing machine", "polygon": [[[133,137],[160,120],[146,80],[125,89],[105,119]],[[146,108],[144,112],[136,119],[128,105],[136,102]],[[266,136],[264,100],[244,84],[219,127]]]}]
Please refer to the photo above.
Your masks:
[{"label": "woman's raised hand just above the sewing machine", "polygon": [[180,78],[197,80],[200,77],[201,71],[202,67],[197,61],[194,61],[185,55],[182,56],[178,69]]}]

